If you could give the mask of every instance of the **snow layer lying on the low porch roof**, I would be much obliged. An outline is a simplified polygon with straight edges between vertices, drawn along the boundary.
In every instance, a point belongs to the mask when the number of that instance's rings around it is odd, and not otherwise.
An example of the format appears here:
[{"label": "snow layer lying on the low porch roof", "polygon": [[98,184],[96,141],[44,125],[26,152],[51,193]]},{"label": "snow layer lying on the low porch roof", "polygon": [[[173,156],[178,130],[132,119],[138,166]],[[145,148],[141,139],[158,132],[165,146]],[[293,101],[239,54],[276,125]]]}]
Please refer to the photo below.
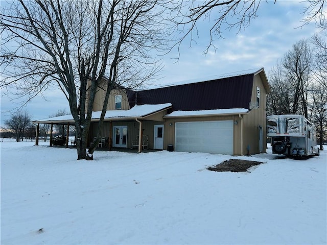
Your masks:
[{"label": "snow layer lying on the low porch roof", "polygon": [[[171,103],[166,104],[158,104],[158,105],[141,105],[141,106],[134,106],[130,110],[109,110],[106,111],[105,119],[106,118],[126,118],[126,117],[144,117],[150,115],[152,113],[164,110],[168,107],[171,107]],[[92,112],[91,119],[99,119],[101,116],[101,111],[94,111]],[[41,120],[35,120],[33,122],[46,122],[46,121],[72,121],[74,120],[71,114],[64,115],[64,116],[57,116],[52,118],[46,118]]]}]

